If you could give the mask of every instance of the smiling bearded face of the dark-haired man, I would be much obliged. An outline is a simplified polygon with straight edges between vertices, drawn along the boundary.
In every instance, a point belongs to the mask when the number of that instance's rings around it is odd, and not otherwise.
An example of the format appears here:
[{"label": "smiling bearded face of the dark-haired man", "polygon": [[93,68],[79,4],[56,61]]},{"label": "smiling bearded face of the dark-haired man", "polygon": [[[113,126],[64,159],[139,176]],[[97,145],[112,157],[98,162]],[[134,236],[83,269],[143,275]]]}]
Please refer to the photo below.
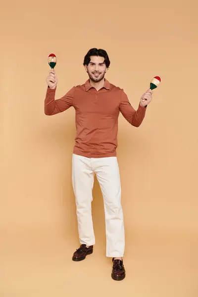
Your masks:
[{"label": "smiling bearded face of the dark-haired man", "polygon": [[105,75],[106,65],[104,63],[104,58],[100,56],[91,56],[89,65],[85,65],[85,69],[88,72],[90,79],[98,83],[100,82]]}]

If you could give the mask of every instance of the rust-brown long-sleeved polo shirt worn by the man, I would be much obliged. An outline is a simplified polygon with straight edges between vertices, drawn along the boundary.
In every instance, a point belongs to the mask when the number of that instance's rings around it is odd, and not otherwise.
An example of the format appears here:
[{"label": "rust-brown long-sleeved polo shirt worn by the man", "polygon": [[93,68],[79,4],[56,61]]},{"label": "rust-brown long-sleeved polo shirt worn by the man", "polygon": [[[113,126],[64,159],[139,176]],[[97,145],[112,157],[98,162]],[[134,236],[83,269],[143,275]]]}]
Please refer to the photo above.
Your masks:
[{"label": "rust-brown long-sleeved polo shirt worn by the man", "polygon": [[77,130],[73,153],[89,158],[116,156],[119,113],[132,126],[139,127],[147,109],[139,104],[136,111],[123,89],[106,79],[99,91],[88,80],[73,87],[60,99],[55,99],[55,89],[48,88],[45,114],[57,114],[71,106],[76,111]]}]

